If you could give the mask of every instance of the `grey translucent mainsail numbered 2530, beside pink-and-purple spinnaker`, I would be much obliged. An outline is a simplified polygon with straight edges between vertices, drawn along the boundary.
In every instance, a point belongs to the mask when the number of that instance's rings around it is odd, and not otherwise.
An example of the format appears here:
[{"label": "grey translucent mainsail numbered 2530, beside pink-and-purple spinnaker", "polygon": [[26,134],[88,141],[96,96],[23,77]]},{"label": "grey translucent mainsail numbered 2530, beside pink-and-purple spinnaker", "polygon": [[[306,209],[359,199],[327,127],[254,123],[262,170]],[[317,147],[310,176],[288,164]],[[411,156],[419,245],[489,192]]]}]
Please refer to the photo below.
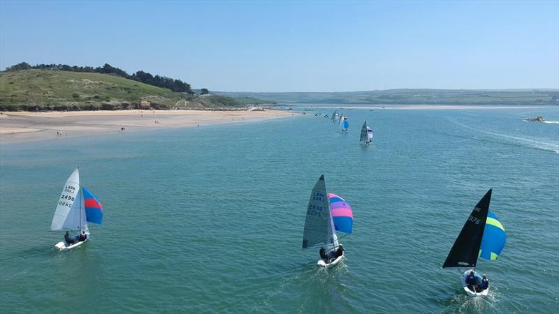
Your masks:
[{"label": "grey translucent mainsail numbered 2530, beside pink-and-purple spinnaker", "polygon": [[330,200],[326,192],[324,175],[321,175],[312,189],[307,206],[303,248],[335,245],[337,245],[337,238],[335,238],[334,223],[330,213]]}]

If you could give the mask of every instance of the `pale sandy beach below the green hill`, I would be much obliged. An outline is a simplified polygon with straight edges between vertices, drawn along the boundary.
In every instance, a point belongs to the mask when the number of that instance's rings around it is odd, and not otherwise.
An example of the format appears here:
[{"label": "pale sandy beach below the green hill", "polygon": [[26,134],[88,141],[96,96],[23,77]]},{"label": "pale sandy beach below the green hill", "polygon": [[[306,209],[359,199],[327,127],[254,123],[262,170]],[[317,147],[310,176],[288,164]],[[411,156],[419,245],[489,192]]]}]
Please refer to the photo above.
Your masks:
[{"label": "pale sandy beach below the green hill", "polygon": [[[78,112],[1,112],[0,143],[56,137],[135,132],[158,128],[184,128],[291,117],[291,112],[119,110]],[[58,134],[57,134],[58,133]]]}]

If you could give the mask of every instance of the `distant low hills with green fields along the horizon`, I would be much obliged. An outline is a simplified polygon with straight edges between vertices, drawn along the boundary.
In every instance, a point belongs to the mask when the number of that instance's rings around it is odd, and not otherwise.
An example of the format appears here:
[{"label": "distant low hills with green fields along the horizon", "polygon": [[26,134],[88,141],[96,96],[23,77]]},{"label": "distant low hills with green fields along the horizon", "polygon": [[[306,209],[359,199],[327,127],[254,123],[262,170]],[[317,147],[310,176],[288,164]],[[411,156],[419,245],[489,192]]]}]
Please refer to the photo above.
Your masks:
[{"label": "distant low hills with green fields along the horizon", "polygon": [[345,103],[401,105],[559,105],[559,90],[389,89],[333,93],[214,92],[231,97],[254,97],[276,103]]}]

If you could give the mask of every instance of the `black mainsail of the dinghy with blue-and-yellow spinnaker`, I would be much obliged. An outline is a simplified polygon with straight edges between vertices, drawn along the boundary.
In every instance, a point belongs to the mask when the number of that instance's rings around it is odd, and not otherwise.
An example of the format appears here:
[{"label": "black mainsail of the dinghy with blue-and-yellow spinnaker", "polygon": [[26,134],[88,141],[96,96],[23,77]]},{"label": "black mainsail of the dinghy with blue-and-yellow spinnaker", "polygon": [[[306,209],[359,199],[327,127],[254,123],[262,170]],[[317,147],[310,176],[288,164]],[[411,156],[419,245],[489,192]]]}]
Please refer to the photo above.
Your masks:
[{"label": "black mainsail of the dinghy with blue-and-yellow spinnaker", "polygon": [[477,203],[452,246],[442,268],[474,268],[489,212],[491,188]]}]

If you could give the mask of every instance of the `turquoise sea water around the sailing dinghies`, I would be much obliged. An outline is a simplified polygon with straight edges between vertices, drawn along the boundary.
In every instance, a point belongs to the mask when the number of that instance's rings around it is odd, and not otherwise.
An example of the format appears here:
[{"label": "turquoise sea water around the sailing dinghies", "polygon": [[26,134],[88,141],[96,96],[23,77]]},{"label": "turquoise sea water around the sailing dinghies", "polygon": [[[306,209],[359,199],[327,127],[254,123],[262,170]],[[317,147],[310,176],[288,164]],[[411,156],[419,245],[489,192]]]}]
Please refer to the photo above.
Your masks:
[{"label": "turquoise sea water around the sailing dinghies", "polygon": [[[323,110],[331,114],[333,109]],[[314,111],[316,112],[316,110]],[[344,110],[0,150],[3,313],[553,313],[559,307],[559,108]],[[374,144],[358,143],[363,120]],[[66,178],[105,209],[92,241],[49,232]],[[303,251],[320,174],[354,210],[341,265]],[[488,188],[507,230],[481,261],[491,295],[441,270]]]}]

